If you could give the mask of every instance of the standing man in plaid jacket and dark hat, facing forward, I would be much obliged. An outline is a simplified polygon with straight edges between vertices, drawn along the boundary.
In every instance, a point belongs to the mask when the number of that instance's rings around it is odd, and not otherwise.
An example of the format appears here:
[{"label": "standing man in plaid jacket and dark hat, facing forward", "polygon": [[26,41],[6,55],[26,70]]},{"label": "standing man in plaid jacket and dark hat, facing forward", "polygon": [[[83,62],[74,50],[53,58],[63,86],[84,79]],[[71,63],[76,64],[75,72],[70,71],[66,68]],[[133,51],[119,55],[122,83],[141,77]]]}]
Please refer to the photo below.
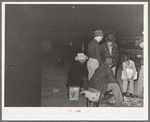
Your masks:
[{"label": "standing man in plaid jacket and dark hat, facing forward", "polygon": [[107,58],[112,58],[113,61],[112,70],[115,75],[118,56],[119,56],[118,47],[114,42],[115,37],[113,34],[108,34],[105,40],[106,42],[103,43],[100,48],[102,61],[104,62]]}]

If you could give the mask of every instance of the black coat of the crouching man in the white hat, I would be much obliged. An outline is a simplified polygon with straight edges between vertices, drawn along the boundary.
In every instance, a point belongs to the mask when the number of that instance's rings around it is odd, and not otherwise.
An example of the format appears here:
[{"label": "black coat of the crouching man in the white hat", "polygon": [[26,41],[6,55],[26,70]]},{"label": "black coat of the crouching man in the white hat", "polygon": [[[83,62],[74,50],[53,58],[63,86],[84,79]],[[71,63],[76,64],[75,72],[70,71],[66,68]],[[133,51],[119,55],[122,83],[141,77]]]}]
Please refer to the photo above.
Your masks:
[{"label": "black coat of the crouching man in the white hat", "polygon": [[83,87],[84,82],[82,78],[88,78],[87,63],[85,62],[82,65],[80,62],[75,61],[75,63],[69,70],[66,86],[75,85]]}]

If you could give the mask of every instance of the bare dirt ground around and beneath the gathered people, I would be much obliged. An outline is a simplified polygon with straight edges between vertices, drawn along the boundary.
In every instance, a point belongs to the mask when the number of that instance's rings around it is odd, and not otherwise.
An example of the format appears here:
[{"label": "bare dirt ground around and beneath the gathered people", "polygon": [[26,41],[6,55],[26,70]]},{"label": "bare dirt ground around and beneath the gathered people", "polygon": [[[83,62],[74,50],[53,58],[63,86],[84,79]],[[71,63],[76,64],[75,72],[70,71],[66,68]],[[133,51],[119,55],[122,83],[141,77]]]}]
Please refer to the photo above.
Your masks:
[{"label": "bare dirt ground around and beneath the gathered people", "polygon": [[[42,90],[41,105],[42,107],[86,107],[87,100],[84,95],[79,96],[77,101],[69,101],[67,97],[67,74],[71,65],[64,64],[61,67],[53,65],[50,59],[43,60],[42,64]],[[121,71],[117,72],[117,80],[122,86]],[[136,84],[135,84],[136,88]],[[113,100],[110,100],[110,102]],[[142,107],[143,99],[124,97],[124,107]],[[100,107],[111,107],[110,104],[101,103]]]}]

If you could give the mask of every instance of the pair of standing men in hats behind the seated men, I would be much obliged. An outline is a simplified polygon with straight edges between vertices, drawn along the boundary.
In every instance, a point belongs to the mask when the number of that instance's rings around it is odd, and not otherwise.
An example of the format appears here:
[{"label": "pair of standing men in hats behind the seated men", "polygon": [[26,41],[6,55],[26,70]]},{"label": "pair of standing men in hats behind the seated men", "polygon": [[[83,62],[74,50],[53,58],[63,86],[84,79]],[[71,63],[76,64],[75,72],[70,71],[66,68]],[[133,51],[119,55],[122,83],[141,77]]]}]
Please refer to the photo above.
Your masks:
[{"label": "pair of standing men in hats behind the seated men", "polygon": [[115,44],[115,37],[113,34],[108,34],[106,37],[106,42],[100,45],[99,43],[103,39],[103,31],[97,30],[95,31],[94,39],[88,45],[88,71],[89,71],[89,79],[94,74],[95,69],[105,62],[106,58],[111,58],[113,61],[112,70],[115,74],[116,65],[118,62],[118,48]]}]

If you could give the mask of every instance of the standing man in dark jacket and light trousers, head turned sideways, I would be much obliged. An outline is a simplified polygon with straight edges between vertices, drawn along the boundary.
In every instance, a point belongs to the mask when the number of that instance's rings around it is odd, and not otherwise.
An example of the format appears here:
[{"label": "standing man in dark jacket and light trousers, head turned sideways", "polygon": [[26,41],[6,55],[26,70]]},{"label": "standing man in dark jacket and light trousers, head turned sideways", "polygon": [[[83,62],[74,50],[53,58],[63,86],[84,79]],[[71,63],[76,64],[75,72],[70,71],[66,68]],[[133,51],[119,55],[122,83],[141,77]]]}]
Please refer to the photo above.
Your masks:
[{"label": "standing man in dark jacket and light trousers, head turned sideways", "polygon": [[88,68],[88,78],[93,76],[95,70],[102,65],[102,59],[100,55],[100,45],[99,42],[102,40],[104,34],[102,30],[97,30],[94,32],[95,38],[89,42],[88,44],[88,57],[89,60],[87,62],[87,68]]}]

